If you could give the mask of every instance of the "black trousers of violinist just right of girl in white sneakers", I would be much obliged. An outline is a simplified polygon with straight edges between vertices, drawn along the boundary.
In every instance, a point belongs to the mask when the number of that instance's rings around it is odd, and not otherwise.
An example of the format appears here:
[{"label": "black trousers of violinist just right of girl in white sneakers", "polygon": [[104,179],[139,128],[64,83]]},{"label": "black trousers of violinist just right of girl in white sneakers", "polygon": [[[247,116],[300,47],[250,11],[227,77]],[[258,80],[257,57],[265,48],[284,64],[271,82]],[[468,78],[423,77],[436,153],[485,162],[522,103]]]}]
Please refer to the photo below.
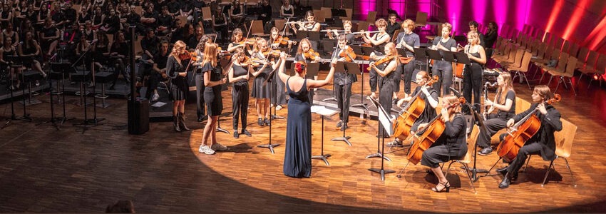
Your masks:
[{"label": "black trousers of violinist just right of girl in white sneakers", "polygon": [[232,86],[232,109],[233,109],[233,128],[237,131],[238,117],[242,116],[242,131],[246,129],[246,119],[248,115],[248,98],[250,91],[248,83],[234,84]]}]

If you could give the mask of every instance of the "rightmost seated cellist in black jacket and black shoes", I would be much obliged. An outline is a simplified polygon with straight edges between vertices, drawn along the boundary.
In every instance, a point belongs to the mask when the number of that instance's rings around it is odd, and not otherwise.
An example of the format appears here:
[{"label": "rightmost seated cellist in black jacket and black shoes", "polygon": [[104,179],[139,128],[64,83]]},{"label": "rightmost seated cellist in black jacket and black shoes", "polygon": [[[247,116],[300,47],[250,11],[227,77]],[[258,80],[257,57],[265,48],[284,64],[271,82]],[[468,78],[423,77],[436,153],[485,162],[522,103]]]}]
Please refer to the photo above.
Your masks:
[{"label": "rightmost seated cellist in black jacket and black shoes", "polygon": [[[555,131],[562,130],[562,121],[560,121],[560,111],[551,106],[547,101],[554,98],[553,93],[548,86],[538,85],[533,90],[533,105],[528,110],[518,113],[513,118],[507,121],[507,127],[511,127],[514,123],[521,121],[536,110],[535,116],[540,120],[540,128],[535,135],[524,143],[524,146],[518,151],[513,161],[505,168],[497,169],[498,172],[505,174],[503,180],[498,185],[499,188],[508,188],[512,180],[518,179],[518,170],[524,165],[526,156],[532,154],[540,154],[545,161],[551,161],[555,158]],[[508,133],[500,136],[501,143]]]}]

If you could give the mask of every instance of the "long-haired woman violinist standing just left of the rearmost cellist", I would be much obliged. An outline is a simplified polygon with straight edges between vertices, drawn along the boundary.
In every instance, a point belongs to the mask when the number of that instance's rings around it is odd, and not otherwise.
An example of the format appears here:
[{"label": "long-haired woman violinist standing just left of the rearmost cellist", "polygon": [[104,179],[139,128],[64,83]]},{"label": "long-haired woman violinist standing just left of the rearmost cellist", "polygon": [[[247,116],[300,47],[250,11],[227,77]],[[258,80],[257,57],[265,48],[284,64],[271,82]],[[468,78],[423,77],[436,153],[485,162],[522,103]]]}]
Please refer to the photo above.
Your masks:
[{"label": "long-haired woman violinist standing just left of the rearmost cellist", "polygon": [[[388,43],[385,46],[385,57],[371,63],[371,71],[375,71],[381,77],[388,80],[393,78],[394,71],[396,71],[396,67],[399,63],[399,58],[396,57],[397,54],[396,44],[393,42]],[[379,83],[381,83],[381,86],[379,86],[379,103],[381,103],[381,106],[389,113],[391,111],[391,106],[393,106],[394,81],[380,81]]]}]

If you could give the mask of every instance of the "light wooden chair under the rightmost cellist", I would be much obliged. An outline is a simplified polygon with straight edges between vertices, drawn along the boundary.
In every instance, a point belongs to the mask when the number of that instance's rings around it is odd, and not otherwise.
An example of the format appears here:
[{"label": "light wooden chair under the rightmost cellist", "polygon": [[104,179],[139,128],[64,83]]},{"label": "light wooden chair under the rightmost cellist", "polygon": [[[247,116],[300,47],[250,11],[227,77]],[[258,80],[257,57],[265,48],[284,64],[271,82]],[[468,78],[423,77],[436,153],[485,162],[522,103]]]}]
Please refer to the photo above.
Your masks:
[{"label": "light wooden chair under the rightmost cellist", "polygon": [[[552,168],[555,170],[553,162],[558,160],[558,158],[564,158],[564,161],[566,161],[566,168],[568,168],[568,172],[570,172],[570,177],[572,178],[572,184],[575,187],[577,186],[575,175],[572,174],[570,164],[568,164],[568,158],[570,157],[570,153],[572,153],[572,143],[574,142],[575,134],[577,133],[577,126],[563,118],[560,118],[560,121],[562,121],[562,131],[556,131],[553,133],[553,136],[555,137],[555,158],[553,158],[553,160],[549,163],[549,167],[547,168],[547,172],[545,172],[545,178],[543,178],[541,187],[545,186],[545,183],[547,183],[547,177],[549,176],[550,170]],[[530,157],[531,156],[528,156],[528,161],[526,161],[524,172],[528,168]]]}]

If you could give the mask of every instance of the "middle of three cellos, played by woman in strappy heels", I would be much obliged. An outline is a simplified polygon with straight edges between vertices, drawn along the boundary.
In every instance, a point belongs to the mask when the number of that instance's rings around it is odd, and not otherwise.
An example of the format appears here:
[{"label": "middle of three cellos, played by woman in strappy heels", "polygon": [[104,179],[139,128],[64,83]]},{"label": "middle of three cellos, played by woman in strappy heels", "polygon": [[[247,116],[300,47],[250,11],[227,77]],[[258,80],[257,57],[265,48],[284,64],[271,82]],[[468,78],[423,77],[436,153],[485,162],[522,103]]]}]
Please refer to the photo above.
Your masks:
[{"label": "middle of three cellos, played by woman in strappy heels", "polygon": [[[463,105],[465,104],[465,102],[465,98],[458,98],[458,103],[452,103],[450,106],[448,106],[447,109]],[[438,140],[438,138],[440,138],[440,136],[444,132],[444,129],[446,129],[446,123],[444,123],[444,121],[440,119],[441,116],[442,113],[438,114],[438,116],[429,121],[429,124],[427,126],[425,126],[414,134],[414,137],[417,138],[417,141],[413,143],[410,148],[409,154],[406,156],[406,158],[409,159],[410,163],[416,165],[419,161],[421,161],[421,156],[423,156],[423,152],[426,151],[429,147],[431,147],[431,144],[435,143],[436,140]],[[417,136],[418,133],[423,134],[421,134],[421,136]]]}]

